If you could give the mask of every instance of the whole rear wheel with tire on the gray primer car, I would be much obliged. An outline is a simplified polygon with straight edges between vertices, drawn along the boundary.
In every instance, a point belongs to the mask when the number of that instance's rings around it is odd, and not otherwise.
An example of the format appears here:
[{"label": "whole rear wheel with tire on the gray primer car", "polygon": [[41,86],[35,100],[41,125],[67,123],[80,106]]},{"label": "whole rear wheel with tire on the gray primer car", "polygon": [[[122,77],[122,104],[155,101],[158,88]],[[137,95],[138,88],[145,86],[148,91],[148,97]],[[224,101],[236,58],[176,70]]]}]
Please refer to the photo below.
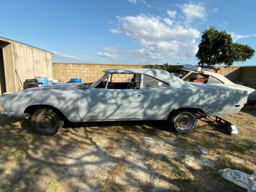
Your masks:
[{"label": "whole rear wheel with tire on the gray primer car", "polygon": [[196,127],[196,114],[190,111],[178,110],[171,119],[171,127],[177,133],[188,133]]}]

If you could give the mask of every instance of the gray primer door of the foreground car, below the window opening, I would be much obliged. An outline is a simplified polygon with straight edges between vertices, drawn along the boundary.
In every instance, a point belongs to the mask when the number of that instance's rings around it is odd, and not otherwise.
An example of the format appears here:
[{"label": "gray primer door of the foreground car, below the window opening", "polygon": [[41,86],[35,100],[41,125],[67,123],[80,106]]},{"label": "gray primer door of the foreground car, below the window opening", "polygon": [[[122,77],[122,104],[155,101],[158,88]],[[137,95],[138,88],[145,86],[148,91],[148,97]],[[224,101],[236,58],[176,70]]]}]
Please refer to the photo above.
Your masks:
[{"label": "gray primer door of the foreground car, below the window opening", "polygon": [[139,120],[143,118],[141,89],[92,88],[78,96],[78,112],[83,122],[104,120]]}]

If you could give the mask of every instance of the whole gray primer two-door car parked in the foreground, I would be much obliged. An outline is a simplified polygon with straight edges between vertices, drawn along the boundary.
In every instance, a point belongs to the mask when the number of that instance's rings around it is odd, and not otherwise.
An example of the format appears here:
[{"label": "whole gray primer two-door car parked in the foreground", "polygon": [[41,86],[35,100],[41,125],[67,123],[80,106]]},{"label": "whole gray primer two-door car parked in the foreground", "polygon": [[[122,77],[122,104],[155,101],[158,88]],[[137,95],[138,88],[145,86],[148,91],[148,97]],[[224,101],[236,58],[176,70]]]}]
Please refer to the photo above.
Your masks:
[{"label": "whole gray primer two-door car parked in the foreground", "polygon": [[[217,116],[236,113],[244,106],[247,92],[230,88],[190,84],[165,70],[108,69],[92,84],[61,84],[3,94],[3,112],[28,118],[40,134],[55,134],[70,122],[169,120],[176,132],[196,126],[196,113]],[[129,76],[115,82],[113,76]],[[122,79],[122,78],[121,78]]]}]

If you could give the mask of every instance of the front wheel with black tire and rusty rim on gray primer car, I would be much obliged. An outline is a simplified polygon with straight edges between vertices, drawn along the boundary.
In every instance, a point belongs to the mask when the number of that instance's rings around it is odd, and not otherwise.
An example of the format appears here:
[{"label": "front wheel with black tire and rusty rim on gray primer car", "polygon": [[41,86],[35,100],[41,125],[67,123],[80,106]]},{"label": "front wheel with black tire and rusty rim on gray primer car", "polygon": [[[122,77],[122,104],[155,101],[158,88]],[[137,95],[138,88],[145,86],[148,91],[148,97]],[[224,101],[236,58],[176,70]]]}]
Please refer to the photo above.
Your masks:
[{"label": "front wheel with black tire and rusty rim on gray primer car", "polygon": [[38,109],[31,118],[33,129],[43,135],[54,135],[64,125],[63,120],[53,110],[48,108]]}]

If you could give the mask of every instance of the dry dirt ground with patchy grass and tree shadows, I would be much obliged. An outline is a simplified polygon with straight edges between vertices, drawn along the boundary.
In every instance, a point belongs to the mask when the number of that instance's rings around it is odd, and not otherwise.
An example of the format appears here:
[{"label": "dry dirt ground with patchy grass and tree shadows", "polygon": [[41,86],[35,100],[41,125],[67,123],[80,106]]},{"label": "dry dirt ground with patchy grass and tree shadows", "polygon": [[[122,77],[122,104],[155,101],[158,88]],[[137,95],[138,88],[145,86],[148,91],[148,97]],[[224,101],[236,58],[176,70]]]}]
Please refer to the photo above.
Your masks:
[{"label": "dry dirt ground with patchy grass and tree shadows", "polygon": [[43,136],[0,115],[0,191],[246,191],[218,170],[256,168],[256,110],[222,117],[239,134],[202,118],[188,134],[154,135],[169,128],[155,121],[69,124]]}]

